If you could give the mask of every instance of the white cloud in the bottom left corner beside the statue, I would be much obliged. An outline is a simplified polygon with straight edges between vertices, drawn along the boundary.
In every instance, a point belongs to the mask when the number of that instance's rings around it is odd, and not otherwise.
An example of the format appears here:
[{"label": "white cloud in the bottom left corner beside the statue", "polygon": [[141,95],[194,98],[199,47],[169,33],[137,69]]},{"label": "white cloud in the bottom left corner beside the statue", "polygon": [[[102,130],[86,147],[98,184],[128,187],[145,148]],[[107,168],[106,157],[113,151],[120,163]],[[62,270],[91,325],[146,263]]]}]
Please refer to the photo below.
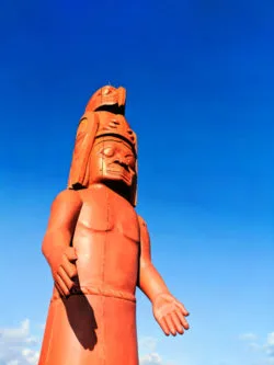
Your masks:
[{"label": "white cloud in the bottom left corner beside the statue", "polygon": [[38,343],[38,339],[31,335],[28,319],[18,328],[0,329],[0,364],[35,365],[39,355],[35,349]]}]

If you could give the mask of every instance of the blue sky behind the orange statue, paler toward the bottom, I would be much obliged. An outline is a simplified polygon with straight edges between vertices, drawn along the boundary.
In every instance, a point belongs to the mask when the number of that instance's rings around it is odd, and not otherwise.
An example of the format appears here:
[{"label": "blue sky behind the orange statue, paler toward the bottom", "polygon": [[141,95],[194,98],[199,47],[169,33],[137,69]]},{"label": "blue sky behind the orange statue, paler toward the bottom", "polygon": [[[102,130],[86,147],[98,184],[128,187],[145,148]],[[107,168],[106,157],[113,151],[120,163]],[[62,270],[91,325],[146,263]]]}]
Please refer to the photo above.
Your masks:
[{"label": "blue sky behind the orange statue, paler toward the bottom", "polygon": [[155,264],[191,312],[165,338],[138,294],[141,364],[274,362],[273,20],[267,0],[1,3],[1,365],[35,364],[49,206],[109,82],[127,89]]}]

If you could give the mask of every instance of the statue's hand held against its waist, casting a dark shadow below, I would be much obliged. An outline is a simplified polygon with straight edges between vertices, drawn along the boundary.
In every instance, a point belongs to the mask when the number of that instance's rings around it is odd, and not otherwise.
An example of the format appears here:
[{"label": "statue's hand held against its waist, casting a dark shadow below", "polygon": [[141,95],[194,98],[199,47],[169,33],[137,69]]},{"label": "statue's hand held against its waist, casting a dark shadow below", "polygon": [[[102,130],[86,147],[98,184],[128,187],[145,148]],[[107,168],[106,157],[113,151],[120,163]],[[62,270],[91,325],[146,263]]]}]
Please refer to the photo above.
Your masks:
[{"label": "statue's hand held against its waist, casting a dark shadow below", "polygon": [[55,285],[61,296],[68,296],[75,286],[73,277],[77,276],[77,254],[73,247],[66,247],[55,252],[50,263]]}]

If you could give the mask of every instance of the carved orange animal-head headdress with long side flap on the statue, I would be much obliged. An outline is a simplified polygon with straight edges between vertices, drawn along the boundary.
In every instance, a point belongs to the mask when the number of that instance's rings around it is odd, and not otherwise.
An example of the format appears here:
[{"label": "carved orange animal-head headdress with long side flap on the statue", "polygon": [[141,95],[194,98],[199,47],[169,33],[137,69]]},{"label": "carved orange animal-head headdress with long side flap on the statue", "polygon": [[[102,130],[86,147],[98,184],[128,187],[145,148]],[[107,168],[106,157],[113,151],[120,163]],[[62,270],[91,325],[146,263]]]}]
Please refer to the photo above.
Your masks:
[{"label": "carved orange animal-head headdress with long side flap on the statue", "polygon": [[[136,134],[130,129],[125,113],[126,90],[111,85],[99,89],[90,99],[85,112],[80,119],[68,187],[79,190],[89,184],[89,158],[96,138],[114,136],[127,141],[137,157]],[[130,203],[136,205],[136,182],[133,186]]]}]

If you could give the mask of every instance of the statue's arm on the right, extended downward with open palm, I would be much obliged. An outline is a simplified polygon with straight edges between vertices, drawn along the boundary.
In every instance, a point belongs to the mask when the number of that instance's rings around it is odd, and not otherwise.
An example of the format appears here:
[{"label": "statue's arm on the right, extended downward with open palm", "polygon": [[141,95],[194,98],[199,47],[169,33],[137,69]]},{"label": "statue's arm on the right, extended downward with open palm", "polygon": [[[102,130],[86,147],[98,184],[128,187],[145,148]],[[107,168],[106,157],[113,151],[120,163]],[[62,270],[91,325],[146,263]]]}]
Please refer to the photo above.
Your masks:
[{"label": "statue's arm on the right, extended downward with open palm", "polygon": [[185,307],[169,292],[164,281],[151,262],[150,238],[145,220],[139,216],[140,259],[138,286],[152,303],[153,315],[163,332],[169,335],[189,329]]}]

